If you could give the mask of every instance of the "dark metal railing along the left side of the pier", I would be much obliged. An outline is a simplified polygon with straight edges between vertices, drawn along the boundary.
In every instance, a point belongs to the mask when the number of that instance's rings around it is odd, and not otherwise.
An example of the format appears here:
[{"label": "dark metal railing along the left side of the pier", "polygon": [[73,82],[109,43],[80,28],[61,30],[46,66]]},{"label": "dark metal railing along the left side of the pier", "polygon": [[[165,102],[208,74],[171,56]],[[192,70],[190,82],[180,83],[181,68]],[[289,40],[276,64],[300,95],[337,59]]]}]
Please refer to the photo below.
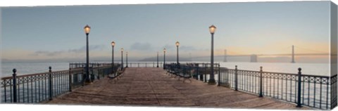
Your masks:
[{"label": "dark metal railing along the left side of the pier", "polygon": [[[96,64],[96,63],[95,63]],[[75,66],[75,65],[74,65]],[[89,65],[89,77],[91,81],[115,74],[120,67],[114,65]],[[52,100],[68,91],[84,86],[84,79],[87,76],[84,67],[70,67],[69,70],[52,71],[37,74],[16,74],[13,69],[13,76],[1,78],[1,103],[40,103]]]}]

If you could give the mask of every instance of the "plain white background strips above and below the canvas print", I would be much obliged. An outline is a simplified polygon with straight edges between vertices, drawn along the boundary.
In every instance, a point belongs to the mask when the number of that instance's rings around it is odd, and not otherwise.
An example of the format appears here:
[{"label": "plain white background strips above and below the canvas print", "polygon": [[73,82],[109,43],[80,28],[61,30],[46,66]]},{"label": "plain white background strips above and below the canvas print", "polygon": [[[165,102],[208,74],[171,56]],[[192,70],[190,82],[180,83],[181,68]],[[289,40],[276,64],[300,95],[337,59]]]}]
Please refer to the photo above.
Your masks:
[{"label": "plain white background strips above and below the canvas print", "polygon": [[[246,1],[273,1],[273,0],[213,0],[212,2],[246,2]],[[282,0],[280,0],[282,1]],[[284,1],[299,1],[299,0],[284,0]],[[306,0],[313,1],[313,0]],[[338,4],[338,0],[332,0],[335,4]],[[73,5],[100,5],[100,4],[174,4],[174,3],[210,3],[210,0],[124,0],[124,1],[108,1],[108,0],[1,0],[0,6],[73,6]],[[1,13],[0,13],[1,19]],[[1,25],[1,23],[0,23]],[[1,30],[1,28],[0,28]],[[1,32],[0,32],[1,33]],[[0,34],[1,36],[1,34]],[[1,37],[0,37],[1,38]],[[1,56],[0,56],[1,58]],[[337,109],[337,108],[336,108]],[[138,107],[138,106],[99,106],[99,105],[11,105],[1,104],[0,110],[48,110],[48,111],[66,111],[66,110],[136,110],[136,111],[149,111],[149,110],[237,110],[237,109],[225,109],[225,108],[201,108],[201,107]],[[245,110],[245,109],[242,109]],[[255,109],[250,109],[255,110]]]}]

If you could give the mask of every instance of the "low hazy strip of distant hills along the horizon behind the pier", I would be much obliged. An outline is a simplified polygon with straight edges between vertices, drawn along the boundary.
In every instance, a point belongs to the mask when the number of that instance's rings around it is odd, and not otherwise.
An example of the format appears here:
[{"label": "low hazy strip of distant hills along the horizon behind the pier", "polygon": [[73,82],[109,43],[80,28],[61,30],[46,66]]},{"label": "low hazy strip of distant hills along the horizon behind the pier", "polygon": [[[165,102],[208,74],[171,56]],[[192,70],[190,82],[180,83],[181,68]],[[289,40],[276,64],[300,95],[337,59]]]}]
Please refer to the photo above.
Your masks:
[{"label": "low hazy strip of distant hills along the horizon behind the pier", "polygon": [[[111,62],[111,57],[109,56],[101,56],[101,57],[91,57],[89,58],[90,62]],[[120,62],[120,57],[114,58],[115,62]],[[125,57],[123,58],[125,60]],[[159,56],[158,60],[163,62],[163,55]],[[180,62],[210,62],[211,58],[189,58],[189,57],[180,57]],[[224,57],[215,57],[215,62],[223,62]],[[25,60],[25,59],[18,59],[18,60],[11,60],[6,58],[1,58],[1,63],[71,63],[71,62],[85,62],[86,58],[51,58],[51,59],[35,59],[35,60]],[[149,58],[142,58],[142,57],[130,57],[128,58],[130,62],[156,62],[157,57],[152,56]],[[176,62],[176,56],[166,56],[166,62]],[[229,57],[227,58],[227,62],[250,62],[249,57]],[[258,57],[258,63],[289,63],[291,62],[291,57]],[[296,63],[329,63],[329,59],[324,56],[322,58],[311,58],[311,57],[297,57]]]}]

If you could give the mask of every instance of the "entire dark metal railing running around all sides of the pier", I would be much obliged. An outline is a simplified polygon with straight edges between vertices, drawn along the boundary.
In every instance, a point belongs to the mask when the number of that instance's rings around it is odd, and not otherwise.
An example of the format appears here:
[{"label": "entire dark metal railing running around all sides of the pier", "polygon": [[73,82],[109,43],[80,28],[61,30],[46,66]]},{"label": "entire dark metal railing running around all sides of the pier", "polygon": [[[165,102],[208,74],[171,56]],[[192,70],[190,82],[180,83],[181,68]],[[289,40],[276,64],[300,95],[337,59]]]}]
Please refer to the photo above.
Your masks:
[{"label": "entire dark metal railing running around all sides of the pier", "polygon": [[[82,63],[70,63],[69,70],[61,70],[38,74],[17,75],[13,70],[12,77],[1,78],[1,102],[4,103],[39,103],[44,100],[51,100],[62,93],[72,91],[76,87],[84,85],[86,76]],[[147,65],[148,64],[148,65]],[[150,67],[156,67],[153,63]],[[100,79],[108,74],[116,75],[115,72],[121,66],[111,63],[90,65],[90,79]],[[129,67],[147,67],[149,63],[130,63]],[[159,67],[163,66],[159,64]],[[183,69],[183,74],[189,74],[194,79],[208,82],[207,75],[210,74],[210,63],[186,63],[176,65],[175,63],[165,64],[165,69]],[[126,65],[125,65],[126,67]],[[235,91],[253,93],[258,97],[269,97],[287,102],[296,103],[296,106],[315,107],[319,109],[332,109],[337,106],[337,74],[332,77],[281,72],[238,70],[220,67],[214,64],[214,74],[218,86],[226,86]]]}]

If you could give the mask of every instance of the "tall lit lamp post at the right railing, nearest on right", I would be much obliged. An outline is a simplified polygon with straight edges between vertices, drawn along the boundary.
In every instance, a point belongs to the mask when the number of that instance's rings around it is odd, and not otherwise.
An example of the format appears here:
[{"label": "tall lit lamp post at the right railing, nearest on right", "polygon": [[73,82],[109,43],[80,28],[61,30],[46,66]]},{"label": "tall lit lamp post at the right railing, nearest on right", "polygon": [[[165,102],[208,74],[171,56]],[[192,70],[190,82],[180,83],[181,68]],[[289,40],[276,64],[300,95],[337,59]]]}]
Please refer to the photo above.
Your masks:
[{"label": "tall lit lamp post at the right railing, nearest on right", "polygon": [[[211,25],[209,27],[209,31],[210,31],[210,34],[211,34],[211,74],[210,74],[210,79],[209,79],[209,82],[208,84],[216,84],[215,82],[215,77],[214,77],[214,74],[213,74],[213,34],[215,34],[215,30],[216,30],[216,27],[214,25]],[[220,76],[220,75],[218,75]]]}]

